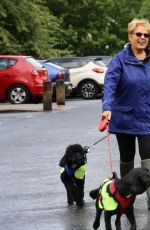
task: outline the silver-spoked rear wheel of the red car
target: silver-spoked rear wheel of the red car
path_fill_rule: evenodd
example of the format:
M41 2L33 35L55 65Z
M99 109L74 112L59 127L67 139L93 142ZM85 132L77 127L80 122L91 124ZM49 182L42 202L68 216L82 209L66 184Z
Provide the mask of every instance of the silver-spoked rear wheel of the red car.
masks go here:
M29 91L22 85L14 85L8 91L8 101L11 104L23 104L29 100Z

